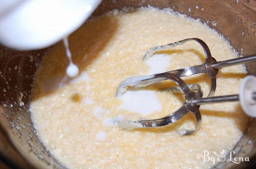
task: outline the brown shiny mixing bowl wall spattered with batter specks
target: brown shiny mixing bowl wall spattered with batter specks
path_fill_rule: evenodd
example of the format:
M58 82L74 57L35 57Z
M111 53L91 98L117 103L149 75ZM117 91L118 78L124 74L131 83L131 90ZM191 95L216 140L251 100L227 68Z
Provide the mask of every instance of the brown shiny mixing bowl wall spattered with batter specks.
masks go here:
M256 54L255 0L103 0L93 15L123 6L148 5L173 8L198 18L223 34L239 54ZM41 144L28 110L33 78L48 49L15 51L0 46L0 158L13 168L64 168ZM248 74L256 75L256 63L247 64L246 68ZM234 150L233 158L249 157L250 161L239 164L224 161L215 167L252 168L255 165L256 119L250 119Z

